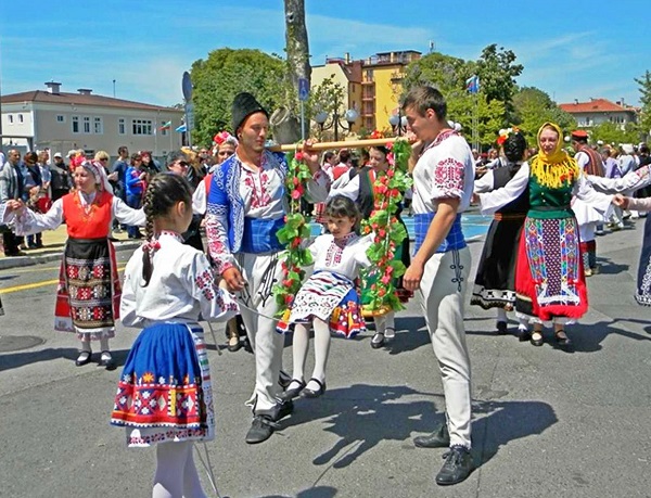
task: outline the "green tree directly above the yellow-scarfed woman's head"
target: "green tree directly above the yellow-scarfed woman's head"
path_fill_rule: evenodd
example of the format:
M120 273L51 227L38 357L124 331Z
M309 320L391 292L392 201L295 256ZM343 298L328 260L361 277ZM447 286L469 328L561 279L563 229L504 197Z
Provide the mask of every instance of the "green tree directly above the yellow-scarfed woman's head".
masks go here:
M556 123L563 130L576 127L576 119L560 108L549 94L535 87L522 87L513 95L512 125L518 125L527 142L536 143L536 133L546 122Z

